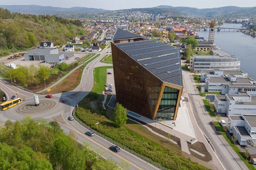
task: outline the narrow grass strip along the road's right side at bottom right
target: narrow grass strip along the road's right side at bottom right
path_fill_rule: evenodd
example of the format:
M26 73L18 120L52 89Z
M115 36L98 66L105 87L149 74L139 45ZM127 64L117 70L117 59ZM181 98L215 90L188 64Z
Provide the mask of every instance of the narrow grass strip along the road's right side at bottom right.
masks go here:
M233 148L233 150L236 151L236 153L238 154L238 156L242 159L242 161L244 161L244 163L247 165L247 167L250 170L256 170L255 167L253 166L253 164L250 163L250 161L246 160L246 157L244 156L244 153L241 152L241 150L236 146L236 144L234 145L234 142L231 140L231 135L228 131L226 131L226 134L221 126L221 123L218 122L213 122L215 127L218 129L218 131L221 132L222 136L227 140L227 142L230 144L230 146Z

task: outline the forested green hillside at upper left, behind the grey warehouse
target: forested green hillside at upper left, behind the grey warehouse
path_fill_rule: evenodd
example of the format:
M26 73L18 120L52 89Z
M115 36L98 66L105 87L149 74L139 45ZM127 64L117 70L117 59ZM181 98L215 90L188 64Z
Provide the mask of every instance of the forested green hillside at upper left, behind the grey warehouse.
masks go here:
M76 35L84 35L81 21L50 15L11 13L0 8L0 48L31 48L40 42L62 45Z

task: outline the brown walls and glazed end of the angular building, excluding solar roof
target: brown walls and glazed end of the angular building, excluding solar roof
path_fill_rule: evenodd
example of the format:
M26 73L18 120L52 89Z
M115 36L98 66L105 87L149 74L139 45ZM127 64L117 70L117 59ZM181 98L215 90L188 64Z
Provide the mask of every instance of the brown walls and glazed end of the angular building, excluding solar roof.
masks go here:
M183 87L163 82L117 46L143 38L111 42L116 101L150 119L175 120Z

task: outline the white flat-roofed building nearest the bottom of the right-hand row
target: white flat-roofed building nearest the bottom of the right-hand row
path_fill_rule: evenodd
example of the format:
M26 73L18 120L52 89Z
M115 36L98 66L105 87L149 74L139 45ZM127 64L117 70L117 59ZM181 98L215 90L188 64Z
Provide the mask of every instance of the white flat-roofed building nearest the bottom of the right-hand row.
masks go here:
M256 142L256 115L229 116L228 130L240 145L252 146Z

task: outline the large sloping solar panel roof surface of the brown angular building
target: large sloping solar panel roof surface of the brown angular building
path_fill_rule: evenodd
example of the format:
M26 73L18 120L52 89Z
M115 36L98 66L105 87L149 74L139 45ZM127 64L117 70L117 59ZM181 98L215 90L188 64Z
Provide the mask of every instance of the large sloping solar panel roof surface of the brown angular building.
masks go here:
M182 86L180 50L154 40L116 44L163 82Z

